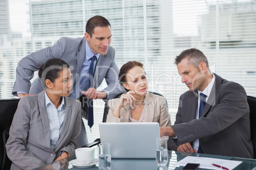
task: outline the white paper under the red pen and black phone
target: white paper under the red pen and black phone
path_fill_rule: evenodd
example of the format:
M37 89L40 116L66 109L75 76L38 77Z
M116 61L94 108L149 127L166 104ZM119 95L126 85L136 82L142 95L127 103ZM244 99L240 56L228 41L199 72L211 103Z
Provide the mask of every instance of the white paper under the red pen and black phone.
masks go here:
M184 159L176 162L175 166L185 166L187 163L200 164L199 168L204 169L217 169L220 170L222 168L213 166L213 164L217 164L222 167L227 167L227 169L234 169L236 166L242 163L242 161L237 160L225 160L225 159L215 159L209 157L185 157Z

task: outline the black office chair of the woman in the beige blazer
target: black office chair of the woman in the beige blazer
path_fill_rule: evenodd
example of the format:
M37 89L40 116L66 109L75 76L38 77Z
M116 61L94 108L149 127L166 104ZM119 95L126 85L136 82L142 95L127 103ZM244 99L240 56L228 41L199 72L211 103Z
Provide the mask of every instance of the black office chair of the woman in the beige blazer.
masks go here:
M157 92L153 92L153 91L148 91L148 93L152 93L154 95L159 95L159 96L163 96L161 95L160 93L157 93ZM122 95L123 93L117 95L115 98L120 98L120 96ZM167 100L166 100L166 105L167 105L167 108L168 108L168 103L167 103ZM108 107L108 102L105 103L105 107L104 107L104 113L103 113L103 122L106 122L106 118L108 116L108 110L110 110L110 107ZM101 143L101 139L100 138L97 138L96 140L94 140L92 143L89 143L87 145L84 145L83 147L94 147L96 145L99 145L99 143Z

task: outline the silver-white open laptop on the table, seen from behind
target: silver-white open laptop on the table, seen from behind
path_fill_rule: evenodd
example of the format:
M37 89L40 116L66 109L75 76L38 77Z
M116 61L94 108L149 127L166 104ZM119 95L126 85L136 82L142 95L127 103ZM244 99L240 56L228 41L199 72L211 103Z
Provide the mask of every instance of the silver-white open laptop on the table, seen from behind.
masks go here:
M157 122L100 123L101 143L110 143L114 159L155 159Z

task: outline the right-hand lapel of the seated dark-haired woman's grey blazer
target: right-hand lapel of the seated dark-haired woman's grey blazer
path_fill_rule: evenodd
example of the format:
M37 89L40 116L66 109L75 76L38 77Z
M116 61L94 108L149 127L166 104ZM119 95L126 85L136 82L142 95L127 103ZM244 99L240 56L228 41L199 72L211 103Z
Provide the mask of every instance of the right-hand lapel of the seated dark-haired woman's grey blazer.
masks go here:
M59 140L57 141L57 143L54 147L54 150L56 148L58 148L58 146L60 145L60 143L62 143L62 140L66 136L66 133L68 133L69 124L70 124L70 120L71 120L71 112L72 112L71 103L69 101L69 98L67 98L67 97L65 97L64 100L65 100L65 117L64 117L62 129L59 134Z

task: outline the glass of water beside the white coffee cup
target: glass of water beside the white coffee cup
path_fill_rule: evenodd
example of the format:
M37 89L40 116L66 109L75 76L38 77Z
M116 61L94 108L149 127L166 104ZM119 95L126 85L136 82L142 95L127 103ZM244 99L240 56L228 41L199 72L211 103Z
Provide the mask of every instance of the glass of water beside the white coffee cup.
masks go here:
M110 143L99 144L99 169L111 169Z

